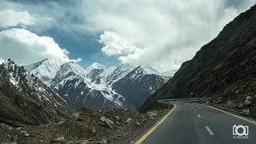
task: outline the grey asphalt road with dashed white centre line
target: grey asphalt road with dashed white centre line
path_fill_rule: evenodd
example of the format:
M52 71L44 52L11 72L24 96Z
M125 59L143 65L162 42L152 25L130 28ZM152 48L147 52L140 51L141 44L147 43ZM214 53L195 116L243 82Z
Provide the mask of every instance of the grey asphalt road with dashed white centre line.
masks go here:
M176 108L142 143L235 144L256 143L256 122L195 103L175 102ZM241 116L240 116L241 117ZM248 138L234 138L233 126L249 126ZM238 129L242 133L242 128ZM142 134L143 135L143 134ZM138 137L138 139L141 136ZM134 142L138 141L134 140Z

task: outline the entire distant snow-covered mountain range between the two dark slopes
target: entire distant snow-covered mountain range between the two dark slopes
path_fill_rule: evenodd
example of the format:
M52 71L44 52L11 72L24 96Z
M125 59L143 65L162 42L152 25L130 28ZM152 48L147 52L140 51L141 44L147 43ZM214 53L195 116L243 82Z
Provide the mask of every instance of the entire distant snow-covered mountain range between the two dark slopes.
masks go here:
M94 62L82 68L76 62L47 58L25 68L74 108L94 110L138 108L174 74L174 71L162 74L148 65L106 67Z

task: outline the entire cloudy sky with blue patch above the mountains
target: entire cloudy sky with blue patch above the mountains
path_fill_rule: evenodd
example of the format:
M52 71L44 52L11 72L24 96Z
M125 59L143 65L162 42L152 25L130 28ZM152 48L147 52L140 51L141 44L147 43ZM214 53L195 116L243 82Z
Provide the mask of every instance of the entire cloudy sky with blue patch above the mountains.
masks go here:
M0 1L0 58L174 70L256 0Z

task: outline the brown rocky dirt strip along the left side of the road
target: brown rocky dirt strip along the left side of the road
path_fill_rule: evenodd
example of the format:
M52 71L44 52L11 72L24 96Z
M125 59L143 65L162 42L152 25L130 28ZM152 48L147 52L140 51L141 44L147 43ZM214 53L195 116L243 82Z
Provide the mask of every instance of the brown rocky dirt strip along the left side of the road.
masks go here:
M0 124L0 142L16 143L128 143L147 130L170 108L151 110L81 109L74 120L41 126L11 127Z

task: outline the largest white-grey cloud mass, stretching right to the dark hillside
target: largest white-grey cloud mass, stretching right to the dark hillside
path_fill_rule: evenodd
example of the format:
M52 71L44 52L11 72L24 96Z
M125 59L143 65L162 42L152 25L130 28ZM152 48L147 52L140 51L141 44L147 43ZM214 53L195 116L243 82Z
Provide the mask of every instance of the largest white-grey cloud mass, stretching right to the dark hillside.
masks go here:
M193 58L223 26L254 3L83 1L79 10L86 21L84 29L96 33L109 30L100 36L106 55L116 55L122 63L150 64L165 71L178 69Z

